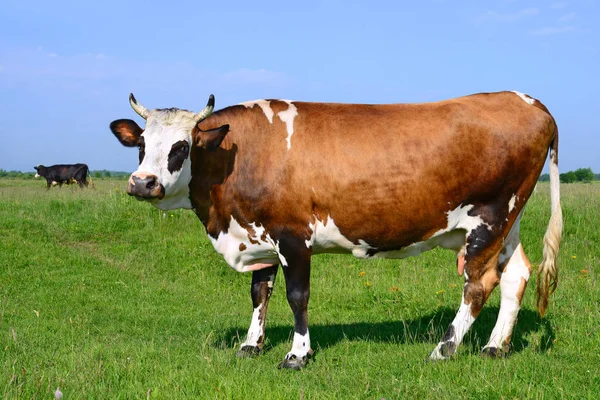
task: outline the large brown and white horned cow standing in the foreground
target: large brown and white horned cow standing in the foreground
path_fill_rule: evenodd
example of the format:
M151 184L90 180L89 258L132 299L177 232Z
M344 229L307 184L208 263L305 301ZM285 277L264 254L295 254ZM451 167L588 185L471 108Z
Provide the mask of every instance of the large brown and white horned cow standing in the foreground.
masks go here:
M427 104L258 100L212 113L148 110L146 128L110 128L138 146L127 191L161 209L188 208L235 270L252 272L254 313L239 355L264 343L267 305L282 265L294 313L291 351L312 354L307 305L313 254L404 258L436 246L458 254L462 304L430 355L451 357L500 283L501 306L484 354L504 355L531 273L519 238L523 207L550 150L552 214L538 272L543 315L557 282L562 232L558 130L538 100L518 92Z

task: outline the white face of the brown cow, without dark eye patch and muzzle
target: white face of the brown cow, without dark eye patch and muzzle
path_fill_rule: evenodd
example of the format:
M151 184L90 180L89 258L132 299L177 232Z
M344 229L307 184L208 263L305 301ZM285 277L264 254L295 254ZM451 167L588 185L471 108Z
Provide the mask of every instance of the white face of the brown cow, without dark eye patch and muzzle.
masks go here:
M192 129L196 125L195 114L185 110L153 110L146 121L144 138L145 156L136 172L156 175L165 188L162 200L152 205L161 210L191 209L189 183L192 179L191 160L188 156L181 168L169 171L169 153L172 146L182 140L192 146Z

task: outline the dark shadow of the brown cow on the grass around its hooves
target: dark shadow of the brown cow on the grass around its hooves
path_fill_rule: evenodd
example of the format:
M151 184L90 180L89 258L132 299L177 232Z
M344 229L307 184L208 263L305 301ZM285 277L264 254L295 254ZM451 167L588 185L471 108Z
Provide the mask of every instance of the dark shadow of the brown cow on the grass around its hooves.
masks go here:
M418 319L356 322L348 324L311 324L309 325L313 349L326 349L342 340L370 341L378 343L430 343L431 349L442 338L446 328L454 319L456 310L440 308L435 313ZM479 353L487 343L498 316L498 307L484 308L465 336L461 346L463 351ZM213 345L219 348L237 347L245 339L247 327L228 329L217 333ZM269 323L267 316L266 345L263 351L269 351L282 343L289 343L293 337L293 321L289 325ZM554 332L547 319L541 319L535 311L522 309L512 336L511 353L519 353L528 347L546 352L552 347Z

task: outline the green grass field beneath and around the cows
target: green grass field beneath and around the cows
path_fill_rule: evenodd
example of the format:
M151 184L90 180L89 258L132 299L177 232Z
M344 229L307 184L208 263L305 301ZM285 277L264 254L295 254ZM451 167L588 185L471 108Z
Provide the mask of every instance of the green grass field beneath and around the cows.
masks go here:
M235 352L250 323L250 274L214 252L196 216L124 192L46 191L0 180L0 393L63 399L439 399L600 396L600 185L562 185L560 282L540 319L530 281L509 358L483 358L496 290L455 359L426 363L458 309L454 253L405 260L313 258L315 359L278 370L293 317L280 273L266 351ZM527 206L522 240L539 264L549 187Z

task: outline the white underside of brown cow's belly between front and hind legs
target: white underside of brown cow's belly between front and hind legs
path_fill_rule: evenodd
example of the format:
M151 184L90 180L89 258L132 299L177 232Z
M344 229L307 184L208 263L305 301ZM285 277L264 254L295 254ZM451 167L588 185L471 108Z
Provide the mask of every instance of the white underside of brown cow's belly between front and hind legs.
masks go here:
M441 230L427 240L412 243L397 250L377 251L376 247L369 245L368 238L359 239L353 243L335 225L335 222L327 217L324 222L319 220L311 224L313 232L310 240L306 241L307 247L312 247L313 254L319 253L350 253L357 258L406 258L440 246L446 249L458 251L466 242L467 231L462 228Z

